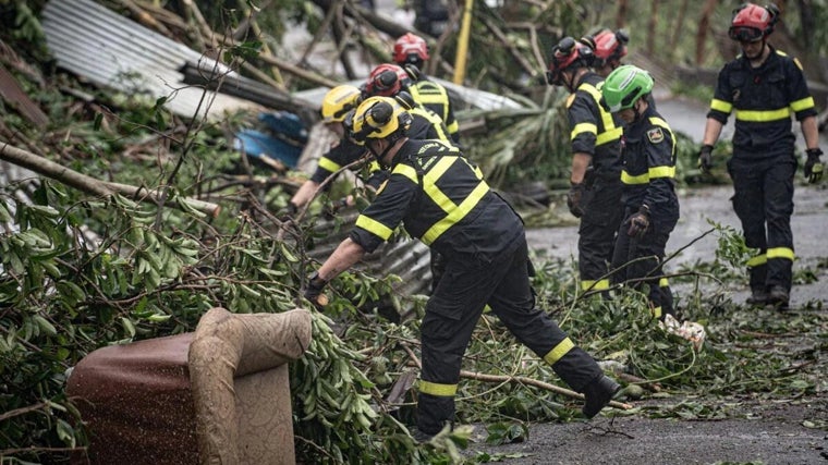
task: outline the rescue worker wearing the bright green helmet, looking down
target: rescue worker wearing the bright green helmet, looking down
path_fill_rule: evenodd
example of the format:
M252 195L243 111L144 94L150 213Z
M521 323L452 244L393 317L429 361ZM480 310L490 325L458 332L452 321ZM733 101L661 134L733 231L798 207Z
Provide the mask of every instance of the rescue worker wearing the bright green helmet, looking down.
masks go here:
M612 257L616 282L647 284L653 316L673 315L672 291L661 265L667 240L679 221L675 196L675 137L649 105L653 77L636 66L619 66L601 87L609 111L624 122L621 159L624 221Z

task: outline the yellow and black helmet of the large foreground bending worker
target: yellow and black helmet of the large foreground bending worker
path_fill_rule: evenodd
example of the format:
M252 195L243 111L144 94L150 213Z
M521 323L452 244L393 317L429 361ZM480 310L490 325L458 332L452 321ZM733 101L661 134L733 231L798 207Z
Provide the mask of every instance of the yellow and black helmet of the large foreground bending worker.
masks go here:
M413 121L409 111L391 97L368 97L353 114L352 137L364 143L368 138L399 138Z

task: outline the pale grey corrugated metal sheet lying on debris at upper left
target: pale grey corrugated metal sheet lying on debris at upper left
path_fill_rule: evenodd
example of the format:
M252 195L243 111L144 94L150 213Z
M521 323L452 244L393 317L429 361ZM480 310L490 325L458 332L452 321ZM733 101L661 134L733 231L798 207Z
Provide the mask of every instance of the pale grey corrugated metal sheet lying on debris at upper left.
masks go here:
M42 26L58 65L99 86L153 99L168 97L166 108L182 117L194 117L196 111L203 115L210 99L210 115L245 108L261 110L253 102L211 91L199 109L204 90L184 85L178 70L186 62L229 70L92 0L49 1Z

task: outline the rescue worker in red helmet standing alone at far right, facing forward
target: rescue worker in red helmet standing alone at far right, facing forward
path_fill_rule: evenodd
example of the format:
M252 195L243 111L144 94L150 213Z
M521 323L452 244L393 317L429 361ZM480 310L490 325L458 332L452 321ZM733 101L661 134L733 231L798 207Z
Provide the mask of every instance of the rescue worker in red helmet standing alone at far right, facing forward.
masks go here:
M742 53L719 72L698 156L704 171L713 167L713 148L735 110L733 210L742 222L745 244L757 250L747 261L748 304L788 308L793 266L793 178L795 136L791 114L800 122L807 147L805 178L819 181L817 110L799 60L775 49L767 38L779 17L775 5L745 3L734 10L728 34Z

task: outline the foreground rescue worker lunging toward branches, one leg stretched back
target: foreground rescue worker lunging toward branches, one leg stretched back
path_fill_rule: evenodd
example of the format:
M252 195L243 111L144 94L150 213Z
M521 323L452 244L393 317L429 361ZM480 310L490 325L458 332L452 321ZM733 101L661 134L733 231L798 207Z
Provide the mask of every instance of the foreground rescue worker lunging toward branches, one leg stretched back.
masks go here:
M353 121L354 136L365 140L391 176L349 237L309 277L304 295L316 302L331 279L387 241L400 223L446 257L446 276L428 299L421 325L416 438L426 440L453 420L463 354L487 304L523 344L584 393L584 415L597 415L619 386L535 307L518 213L459 148L406 137L411 115L395 100L369 98Z

